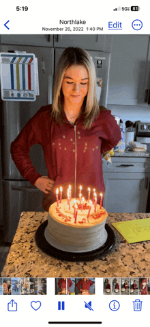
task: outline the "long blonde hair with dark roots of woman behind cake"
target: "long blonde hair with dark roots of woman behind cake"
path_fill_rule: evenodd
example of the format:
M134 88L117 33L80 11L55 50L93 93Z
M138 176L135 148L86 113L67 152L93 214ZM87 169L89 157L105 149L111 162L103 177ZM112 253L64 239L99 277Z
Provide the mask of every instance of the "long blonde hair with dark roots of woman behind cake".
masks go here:
M52 116L60 125L63 121L64 97L61 89L63 76L67 68L73 64L83 65L89 73L89 90L83 101L82 113L84 114L84 128L90 128L95 116L100 112L96 97L96 74L93 60L89 53L76 47L68 47L59 58L55 74L54 97L52 101Z

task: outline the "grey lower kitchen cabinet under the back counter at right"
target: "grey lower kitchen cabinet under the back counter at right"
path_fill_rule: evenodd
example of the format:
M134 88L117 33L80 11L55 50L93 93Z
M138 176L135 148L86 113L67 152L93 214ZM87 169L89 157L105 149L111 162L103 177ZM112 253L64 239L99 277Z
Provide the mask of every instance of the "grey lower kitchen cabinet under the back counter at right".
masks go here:
M108 213L146 213L150 158L112 157L103 162L104 208Z

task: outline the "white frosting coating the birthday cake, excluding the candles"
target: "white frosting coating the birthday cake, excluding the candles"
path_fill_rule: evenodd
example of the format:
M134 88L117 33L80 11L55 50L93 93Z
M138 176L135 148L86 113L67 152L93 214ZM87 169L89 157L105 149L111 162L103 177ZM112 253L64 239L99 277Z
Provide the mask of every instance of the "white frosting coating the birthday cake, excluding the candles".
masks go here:
M63 200L63 204L64 201L66 202L66 200ZM57 217L57 214L55 214L54 217L54 208L56 213L57 204L52 204L48 213L48 226L44 232L48 243L53 247L66 252L89 252L101 247L107 239L107 232L104 228L107 218L106 210L103 208L103 217L96 220L92 218L93 212L91 212L89 223L87 221L86 223L74 223L74 209L71 209L71 213L71 210L68 211L67 205L64 205L63 208L63 204L60 205L61 213L64 211L65 215L69 214L72 221L65 222L62 217ZM97 205L97 210L96 213L100 213L99 205ZM88 210L86 215L84 213L83 216L83 213L84 212L81 212L81 210L78 210L78 220L82 220L82 218L80 219L80 216L86 217Z

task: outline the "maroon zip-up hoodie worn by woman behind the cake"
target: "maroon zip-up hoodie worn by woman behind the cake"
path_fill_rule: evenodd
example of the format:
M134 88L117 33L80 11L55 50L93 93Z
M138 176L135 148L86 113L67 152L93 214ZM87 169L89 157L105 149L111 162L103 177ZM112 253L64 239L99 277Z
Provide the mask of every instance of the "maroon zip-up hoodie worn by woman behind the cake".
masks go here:
M97 193L104 193L102 173L102 153L112 149L121 140L121 130L110 110L100 107L100 114L95 117L90 129L83 129L82 114L74 125L63 114L63 124L52 119L51 106L44 106L28 121L25 128L11 144L11 154L16 167L25 180L35 184L42 175L35 171L29 157L30 147L35 143L42 145L48 178L55 181L52 190L44 193L43 207L48 210L56 201L57 187L63 187L63 197L67 197L69 184L72 197L78 197L79 186L82 196L87 199L88 187ZM39 159L39 158L38 158ZM75 183L76 180L76 183Z

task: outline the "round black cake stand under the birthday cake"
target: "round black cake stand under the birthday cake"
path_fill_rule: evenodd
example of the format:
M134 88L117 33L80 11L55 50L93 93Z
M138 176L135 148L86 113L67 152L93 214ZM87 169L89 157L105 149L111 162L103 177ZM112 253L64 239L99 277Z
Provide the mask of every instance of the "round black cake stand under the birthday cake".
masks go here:
M112 247L115 245L115 234L106 223L105 228L108 234L107 240L96 250L89 251L89 252L82 252L82 253L74 253L74 252L66 252L61 251L53 247L46 241L46 238L44 237L44 231L48 224L48 220L44 221L39 228L37 228L37 231L35 233L35 241L37 243L37 246L42 250L44 253L53 256L55 258L58 258L59 260L64 261L93 261L99 258L102 258L102 256L105 256L110 250L112 250Z

